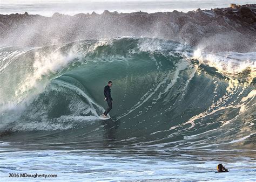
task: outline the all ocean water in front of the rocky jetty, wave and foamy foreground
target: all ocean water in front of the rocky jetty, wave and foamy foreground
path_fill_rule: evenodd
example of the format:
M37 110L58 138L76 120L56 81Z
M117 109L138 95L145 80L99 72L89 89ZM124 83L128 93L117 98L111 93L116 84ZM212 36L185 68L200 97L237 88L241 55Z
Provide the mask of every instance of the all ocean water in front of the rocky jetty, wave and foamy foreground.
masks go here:
M2 180L256 180L255 58L136 37L1 47Z

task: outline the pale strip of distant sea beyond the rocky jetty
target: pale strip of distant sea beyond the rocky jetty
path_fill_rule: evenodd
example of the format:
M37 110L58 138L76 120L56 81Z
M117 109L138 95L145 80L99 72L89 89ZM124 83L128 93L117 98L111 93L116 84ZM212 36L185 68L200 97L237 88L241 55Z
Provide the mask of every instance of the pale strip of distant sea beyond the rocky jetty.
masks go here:
M253 0L213 0L213 1L188 1L188 0L161 0L161 1L40 1L40 0L1 0L0 14L24 13L43 15L51 17L53 13L59 12L65 15L75 15L77 13L102 13L104 10L111 12L171 12L173 10L187 12L200 9L227 8L231 3L253 4Z

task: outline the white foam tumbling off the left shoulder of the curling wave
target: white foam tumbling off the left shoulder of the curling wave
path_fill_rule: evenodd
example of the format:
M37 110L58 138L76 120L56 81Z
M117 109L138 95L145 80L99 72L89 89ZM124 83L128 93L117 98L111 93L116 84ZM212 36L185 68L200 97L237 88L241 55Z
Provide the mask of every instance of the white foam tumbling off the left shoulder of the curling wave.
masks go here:
M15 73L15 76L21 81L16 86L12 85L12 89L16 90L15 95L8 95L8 97L10 97L9 102L5 103L4 101L2 103L1 110L8 108L14 109L17 107L18 103L19 107L22 104L30 104L39 93L44 91L49 82L56 76L59 76L59 73L61 73L64 68L68 67L69 64L72 64L73 61L81 61L83 63L83 57L85 54L95 51L98 46L111 43L112 40L95 41L93 43L89 43L86 50L81 50L82 46L80 46L80 44L75 44L67 53L61 52L61 48L66 46L66 44L60 45L50 52L44 52L44 47L33 47L23 49L22 51L13 51L8 53L1 52L0 57L5 59L4 65L1 66L1 70L4 70L15 58L18 58L28 51L35 50L31 52L31 54L34 53L33 62L28 62L28 64L24 64L24 61L26 60L22 62L22 65L32 65L32 67L22 67L20 68L20 72L17 74ZM83 55L80 52L82 52ZM1 60L1 62L3 62L3 60Z

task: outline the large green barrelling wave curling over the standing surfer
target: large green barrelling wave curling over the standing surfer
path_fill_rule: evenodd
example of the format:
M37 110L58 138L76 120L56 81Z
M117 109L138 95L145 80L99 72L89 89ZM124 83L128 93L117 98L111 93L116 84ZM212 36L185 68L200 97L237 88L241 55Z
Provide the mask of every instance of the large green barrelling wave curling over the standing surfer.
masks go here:
M33 142L35 135L56 142L65 135L65 142L89 141L80 143L86 147L111 139L118 146L181 148L233 145L255 134L254 69L231 75L186 45L119 38L0 51L2 132ZM109 80L112 118L101 121Z

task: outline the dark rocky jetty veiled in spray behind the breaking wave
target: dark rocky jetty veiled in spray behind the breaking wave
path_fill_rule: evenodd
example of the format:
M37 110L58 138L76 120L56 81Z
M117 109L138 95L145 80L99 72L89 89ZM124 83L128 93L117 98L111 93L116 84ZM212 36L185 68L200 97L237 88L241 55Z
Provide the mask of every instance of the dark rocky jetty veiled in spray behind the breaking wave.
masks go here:
M179 41L209 51L256 51L256 4L184 12L0 15L0 46L42 46L122 36Z

